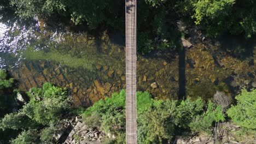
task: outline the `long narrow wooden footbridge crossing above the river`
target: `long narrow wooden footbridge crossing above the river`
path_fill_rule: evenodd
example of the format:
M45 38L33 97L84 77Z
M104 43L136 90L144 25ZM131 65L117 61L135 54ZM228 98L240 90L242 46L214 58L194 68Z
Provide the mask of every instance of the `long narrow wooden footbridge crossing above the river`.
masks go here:
M126 143L137 143L136 0L126 0Z

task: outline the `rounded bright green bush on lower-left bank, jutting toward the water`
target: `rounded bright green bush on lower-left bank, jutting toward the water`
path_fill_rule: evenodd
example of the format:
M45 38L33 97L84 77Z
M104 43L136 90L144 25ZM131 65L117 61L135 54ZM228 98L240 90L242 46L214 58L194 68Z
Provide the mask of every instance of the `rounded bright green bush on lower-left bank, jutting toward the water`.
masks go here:
M22 111L43 125L59 121L62 113L71 105L66 88L55 87L50 83L45 83L43 88L32 88L28 95L31 98L30 103L25 105Z

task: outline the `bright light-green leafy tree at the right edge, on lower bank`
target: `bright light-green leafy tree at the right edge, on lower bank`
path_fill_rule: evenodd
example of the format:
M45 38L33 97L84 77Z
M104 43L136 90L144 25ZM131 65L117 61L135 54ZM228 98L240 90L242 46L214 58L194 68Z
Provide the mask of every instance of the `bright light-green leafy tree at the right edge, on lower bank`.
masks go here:
M232 121L246 129L256 129L256 89L248 92L242 89L242 93L236 96L237 105L228 109L228 116Z

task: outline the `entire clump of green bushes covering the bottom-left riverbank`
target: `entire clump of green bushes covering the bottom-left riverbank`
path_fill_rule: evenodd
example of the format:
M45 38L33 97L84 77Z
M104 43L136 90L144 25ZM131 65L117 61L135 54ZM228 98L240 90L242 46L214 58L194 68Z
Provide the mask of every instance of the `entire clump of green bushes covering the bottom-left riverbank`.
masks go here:
M3 130L24 130L12 143L54 143L55 125L69 111L71 98L66 88L45 83L27 93L30 101L18 112L9 113L0 121Z

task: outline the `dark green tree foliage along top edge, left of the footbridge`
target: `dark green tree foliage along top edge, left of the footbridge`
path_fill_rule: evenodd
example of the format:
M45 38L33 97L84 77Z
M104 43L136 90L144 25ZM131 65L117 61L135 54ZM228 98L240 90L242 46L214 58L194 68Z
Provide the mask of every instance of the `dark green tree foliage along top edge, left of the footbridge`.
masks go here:
M16 13L21 17L50 17L59 14L70 17L75 25L86 22L90 27L97 27L103 21L106 22L106 16L109 13L114 16L117 15L111 13L108 5L113 4L111 5L113 7L119 5L120 2L112 3L105 0L79 0L75 2L71 0L11 0L10 4L15 7Z

